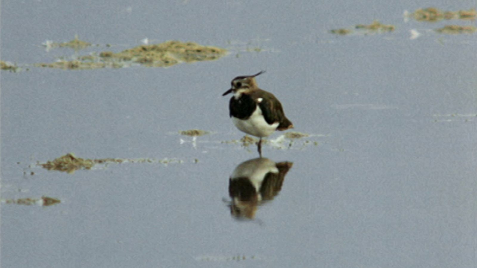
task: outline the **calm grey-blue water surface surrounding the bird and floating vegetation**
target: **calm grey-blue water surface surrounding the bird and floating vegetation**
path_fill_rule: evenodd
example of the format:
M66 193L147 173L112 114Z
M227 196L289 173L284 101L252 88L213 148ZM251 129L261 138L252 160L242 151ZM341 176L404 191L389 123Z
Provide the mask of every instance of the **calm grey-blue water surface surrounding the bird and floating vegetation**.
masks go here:
M477 39L404 10L475 1L1 2L1 267L477 267ZM395 31L339 36L378 19ZM411 39L411 30L419 32ZM111 44L167 40L227 48L169 68L64 71L29 64ZM262 148L292 162L254 219L230 213L229 176L258 157L221 97L266 70L296 140ZM180 130L211 134L197 138ZM166 159L73 174L78 157ZM33 175L31 175L33 172ZM51 196L54 206L7 204Z

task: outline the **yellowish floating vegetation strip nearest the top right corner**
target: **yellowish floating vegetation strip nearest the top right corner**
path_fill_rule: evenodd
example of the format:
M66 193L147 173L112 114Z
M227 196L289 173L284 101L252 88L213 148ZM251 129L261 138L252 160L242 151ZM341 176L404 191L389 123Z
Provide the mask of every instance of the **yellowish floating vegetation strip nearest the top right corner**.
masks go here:
M475 20L477 13L475 9L443 11L437 8L429 7L426 9L415 10L411 16L416 21Z

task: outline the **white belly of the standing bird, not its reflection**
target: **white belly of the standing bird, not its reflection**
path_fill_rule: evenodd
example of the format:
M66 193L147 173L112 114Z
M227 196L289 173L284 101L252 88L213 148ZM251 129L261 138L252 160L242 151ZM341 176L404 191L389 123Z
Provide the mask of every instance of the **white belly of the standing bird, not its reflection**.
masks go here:
M275 132L280 123L275 122L273 124L268 124L263 118L262 111L259 109L259 106L255 109L252 115L247 120L241 120L232 116L232 122L235 126L250 135L256 137L266 137Z

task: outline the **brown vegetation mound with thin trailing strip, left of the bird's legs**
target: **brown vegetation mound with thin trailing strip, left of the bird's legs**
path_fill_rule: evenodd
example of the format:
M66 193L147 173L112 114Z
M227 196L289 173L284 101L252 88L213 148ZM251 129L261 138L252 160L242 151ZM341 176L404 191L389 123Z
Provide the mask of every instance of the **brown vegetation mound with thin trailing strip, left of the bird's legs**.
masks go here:
M123 159L123 158L102 158L102 159L83 159L76 157L76 155L70 153L56 158L53 161L48 161L44 164L39 164L43 168L48 170L57 170L67 173L74 173L78 169L91 169L96 164L108 164L108 163L182 163L182 160L175 158L164 159L151 159L151 158L136 158L136 159Z

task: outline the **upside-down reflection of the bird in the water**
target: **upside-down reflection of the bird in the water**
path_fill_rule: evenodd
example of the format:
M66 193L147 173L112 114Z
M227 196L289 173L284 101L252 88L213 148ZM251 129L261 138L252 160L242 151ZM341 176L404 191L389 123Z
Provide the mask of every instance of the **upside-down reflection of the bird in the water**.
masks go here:
M238 165L228 181L231 215L237 219L253 219L259 205L278 195L292 165L261 157Z

